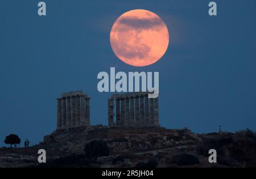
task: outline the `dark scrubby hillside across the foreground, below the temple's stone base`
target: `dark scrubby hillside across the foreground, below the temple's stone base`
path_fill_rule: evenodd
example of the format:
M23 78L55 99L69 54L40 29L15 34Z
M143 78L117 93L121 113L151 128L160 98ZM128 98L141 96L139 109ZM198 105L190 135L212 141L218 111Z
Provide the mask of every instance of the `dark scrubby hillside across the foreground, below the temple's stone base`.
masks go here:
M181 142L176 146L143 148L99 157L97 161L86 159L84 154L48 150L47 163L40 165L37 151L41 146L1 148L0 167L256 167L256 135L252 131L198 136L200 140L197 143ZM118 141L110 141L109 145L112 146L113 142ZM210 149L217 151L216 164L208 162Z

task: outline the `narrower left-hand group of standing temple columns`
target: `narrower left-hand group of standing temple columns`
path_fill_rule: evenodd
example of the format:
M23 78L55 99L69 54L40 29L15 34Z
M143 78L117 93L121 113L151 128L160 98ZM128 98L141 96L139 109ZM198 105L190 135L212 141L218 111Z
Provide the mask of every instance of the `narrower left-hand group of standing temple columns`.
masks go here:
M82 91L61 93L57 98L57 130L90 126L90 97Z

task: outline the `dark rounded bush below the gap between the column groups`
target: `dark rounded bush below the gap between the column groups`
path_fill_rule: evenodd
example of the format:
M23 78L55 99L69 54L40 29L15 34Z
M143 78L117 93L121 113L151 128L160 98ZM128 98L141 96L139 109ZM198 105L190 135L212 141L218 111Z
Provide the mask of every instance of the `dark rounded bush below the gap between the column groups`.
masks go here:
M100 156L109 155L109 147L103 140L92 140L85 145L85 155L88 159L97 160Z

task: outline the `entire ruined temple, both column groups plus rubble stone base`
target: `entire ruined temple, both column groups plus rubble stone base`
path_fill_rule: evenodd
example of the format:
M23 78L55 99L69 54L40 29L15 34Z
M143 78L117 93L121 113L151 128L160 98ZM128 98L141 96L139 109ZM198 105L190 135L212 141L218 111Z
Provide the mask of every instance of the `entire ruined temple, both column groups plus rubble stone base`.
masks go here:
M108 99L109 126L90 125L89 100L82 91L62 93L57 98L57 130L44 136L39 147L84 154L91 140L105 140L111 154L125 154L199 140L188 129L160 127L158 98L149 99L147 92L112 95Z

